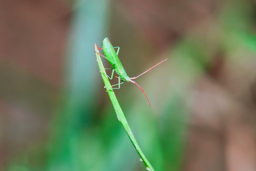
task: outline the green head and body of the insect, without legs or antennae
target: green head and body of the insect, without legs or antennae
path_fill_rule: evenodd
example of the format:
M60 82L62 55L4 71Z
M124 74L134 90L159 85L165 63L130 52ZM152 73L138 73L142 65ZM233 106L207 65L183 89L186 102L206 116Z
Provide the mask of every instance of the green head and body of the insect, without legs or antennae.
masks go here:
M102 47L105 57L108 59L108 62L111 64L116 73L120 76L120 79L129 82L130 78L126 74L118 55L108 38L104 38Z

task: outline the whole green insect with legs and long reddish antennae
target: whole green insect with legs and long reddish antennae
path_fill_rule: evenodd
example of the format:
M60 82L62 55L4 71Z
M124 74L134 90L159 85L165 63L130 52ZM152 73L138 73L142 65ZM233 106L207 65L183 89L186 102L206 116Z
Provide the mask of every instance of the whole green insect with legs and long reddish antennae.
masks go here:
M102 49L103 49L103 52L104 52L105 56L103 56L103 55L101 55L101 54L99 54L99 53L98 53L98 54L99 54L100 56L105 57L106 59L108 59L108 62L109 62L109 63L111 64L111 66L112 66L112 68L109 68L109 69L112 69L113 71L112 71L111 77L109 77L109 76L107 75L108 78L109 78L109 79L112 79L112 78L113 78L114 71L116 71L116 73L118 74L118 84L116 84L116 85L118 85L118 88L112 88L112 89L119 89L119 88L120 88L120 84L123 84L124 81L126 81L126 82L131 82L131 83L136 84L136 85L141 89L141 91L144 93L144 95L146 96L146 98L147 98L147 100L148 100L148 96L146 95L145 91L144 91L135 81L133 81L133 79L136 79L136 78L138 78L139 76L145 74L146 72L148 72L148 71L151 70L152 68L158 66L159 64L161 64L162 62L166 61L167 59L165 59L165 60L159 62L159 63L158 63L157 65L155 65L155 66L152 66L151 68L149 68L149 69L148 69L147 71L145 71L144 73L142 73L142 74L140 74L140 75L138 75L138 76L136 76L136 77L130 78L130 77L127 75L127 73L126 73L124 67L123 67L122 64L121 64L121 61L120 61L119 58L118 58L118 52L119 52L120 47L113 47L108 38L104 38L102 48L99 48L99 47L95 44L95 48L96 48L96 47L97 47L99 50L102 50ZM117 52L115 51L114 48L118 48ZM105 68L105 69L108 69L108 68ZM120 83L120 80L122 81L121 83ZM113 86L116 86L116 85L112 85L112 87L113 87ZM149 107L150 107L149 100L148 100L148 104L149 104Z

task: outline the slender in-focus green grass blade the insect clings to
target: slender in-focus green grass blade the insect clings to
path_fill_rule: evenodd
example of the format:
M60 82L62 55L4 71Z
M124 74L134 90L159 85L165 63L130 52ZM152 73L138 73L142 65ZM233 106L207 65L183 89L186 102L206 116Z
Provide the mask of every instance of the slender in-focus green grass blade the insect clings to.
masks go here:
M109 95L109 98L111 100L111 103L114 106L114 109L116 111L116 114L117 114L119 122L125 128L125 131L128 134L129 139L131 140L131 142L132 142L133 146L135 147L136 151L138 152L138 155L140 156L142 161L147 166L147 170L148 171L155 171L154 168L149 163L149 161L147 160L147 158L145 157L144 153L139 148L138 142L136 141L134 135L131 132L131 129L130 129L130 127L128 125L128 122L127 122L127 120L125 118L125 115L124 115L124 113L123 113L123 111L122 111L122 109L121 109L121 107L120 107L120 105L118 103L118 99L117 99L113 89L111 89L112 88L111 84L109 83L108 77L106 76L107 73L105 72L105 69L104 69L103 63L101 61L101 58L100 58L100 56L97 53L98 52L98 48L97 47L95 47L95 52L96 52L98 67L99 67L99 70L101 71L101 76L102 76L103 82L104 82L106 88L108 89L108 95Z

